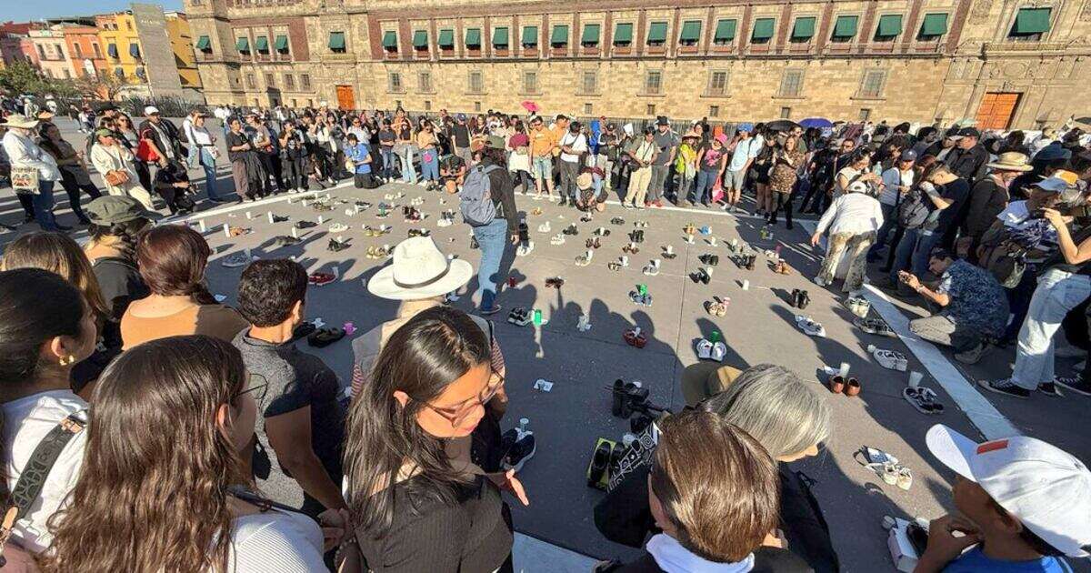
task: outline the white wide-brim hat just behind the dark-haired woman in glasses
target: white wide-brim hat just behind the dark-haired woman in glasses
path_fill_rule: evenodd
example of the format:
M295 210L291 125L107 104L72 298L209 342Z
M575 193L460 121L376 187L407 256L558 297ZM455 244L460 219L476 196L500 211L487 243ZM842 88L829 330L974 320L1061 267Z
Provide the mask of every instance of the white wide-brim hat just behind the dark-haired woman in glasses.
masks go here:
M431 237L413 237L394 248L394 261L375 273L368 290L380 298L418 300L452 293L471 276L473 265L447 260Z

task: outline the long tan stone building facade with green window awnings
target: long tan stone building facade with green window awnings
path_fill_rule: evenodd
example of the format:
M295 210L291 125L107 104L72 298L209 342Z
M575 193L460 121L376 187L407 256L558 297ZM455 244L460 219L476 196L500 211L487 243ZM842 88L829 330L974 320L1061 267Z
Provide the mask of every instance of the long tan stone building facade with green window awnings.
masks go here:
M1091 115L1091 0L187 0L209 103L986 128Z

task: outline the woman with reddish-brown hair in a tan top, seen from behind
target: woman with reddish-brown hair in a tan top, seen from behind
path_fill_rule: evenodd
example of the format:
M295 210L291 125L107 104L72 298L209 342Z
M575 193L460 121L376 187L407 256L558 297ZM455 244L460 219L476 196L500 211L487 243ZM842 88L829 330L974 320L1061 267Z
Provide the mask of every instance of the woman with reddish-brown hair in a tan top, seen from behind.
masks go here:
M204 237L183 225L164 225L140 235L136 263L152 294L130 303L121 317L124 349L178 334L230 342L249 325L205 286L209 254Z

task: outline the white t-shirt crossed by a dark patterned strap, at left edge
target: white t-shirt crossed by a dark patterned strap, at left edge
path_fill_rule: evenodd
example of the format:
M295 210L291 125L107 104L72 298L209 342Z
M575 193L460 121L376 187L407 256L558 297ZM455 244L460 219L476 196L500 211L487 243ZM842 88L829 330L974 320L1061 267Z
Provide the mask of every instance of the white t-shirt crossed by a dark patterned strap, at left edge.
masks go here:
M15 488L38 443L58 422L76 413L82 413L81 417L87 421L87 403L69 390L40 392L13 399L3 404L2 408L3 449L8 453L3 463L9 491ZM52 537L46 528L46 520L57 512L64 497L75 487L86 444L86 430L69 440L49 471L41 494L26 515L15 523L12 538L23 549L40 553L49 547Z

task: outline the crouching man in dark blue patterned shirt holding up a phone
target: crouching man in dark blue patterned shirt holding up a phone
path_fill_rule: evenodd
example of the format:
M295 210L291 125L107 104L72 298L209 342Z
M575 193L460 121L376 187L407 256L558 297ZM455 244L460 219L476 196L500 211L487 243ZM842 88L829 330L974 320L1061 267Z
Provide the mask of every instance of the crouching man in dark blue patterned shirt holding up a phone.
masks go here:
M944 249L932 251L928 271L939 277L936 286L901 271L899 279L928 303L940 309L931 317L909 321L909 330L925 341L955 349L955 357L974 363L991 341L1004 334L1008 322L1008 299L1004 287L980 266L955 260Z

